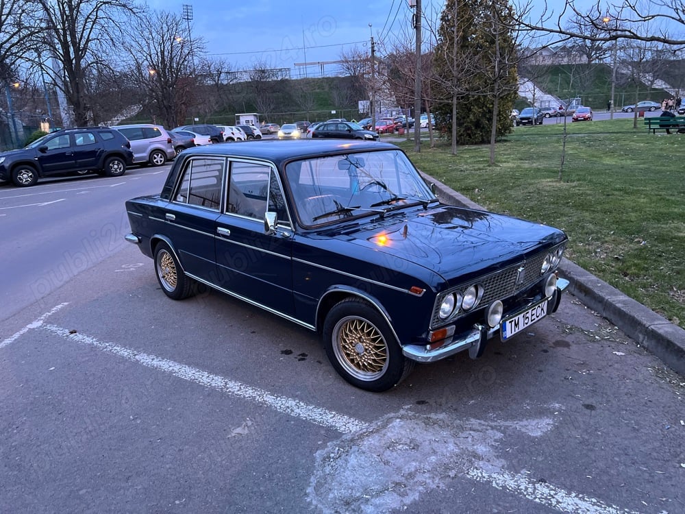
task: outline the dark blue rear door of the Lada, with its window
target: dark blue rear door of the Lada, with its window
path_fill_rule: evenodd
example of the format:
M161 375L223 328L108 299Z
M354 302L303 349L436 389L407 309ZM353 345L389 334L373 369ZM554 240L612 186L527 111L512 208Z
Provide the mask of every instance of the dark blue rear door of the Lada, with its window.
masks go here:
M221 214L226 159L197 156L186 160L164 212L164 231L184 271L215 284L214 233Z

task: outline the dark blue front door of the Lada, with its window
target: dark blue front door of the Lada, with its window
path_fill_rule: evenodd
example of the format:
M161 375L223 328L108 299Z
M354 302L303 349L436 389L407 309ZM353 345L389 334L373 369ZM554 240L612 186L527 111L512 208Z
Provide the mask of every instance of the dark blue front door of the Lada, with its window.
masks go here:
M216 220L216 269L226 291L278 313L292 315L292 225L275 169L234 160L227 201ZM275 234L264 229L277 212Z

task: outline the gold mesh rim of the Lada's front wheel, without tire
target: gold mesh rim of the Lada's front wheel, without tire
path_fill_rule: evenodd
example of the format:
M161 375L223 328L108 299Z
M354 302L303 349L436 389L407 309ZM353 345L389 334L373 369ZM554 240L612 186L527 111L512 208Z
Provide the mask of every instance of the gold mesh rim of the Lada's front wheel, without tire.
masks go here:
M333 329L333 351L354 378L375 380L388 368L388 344L378 328L362 317L340 319Z

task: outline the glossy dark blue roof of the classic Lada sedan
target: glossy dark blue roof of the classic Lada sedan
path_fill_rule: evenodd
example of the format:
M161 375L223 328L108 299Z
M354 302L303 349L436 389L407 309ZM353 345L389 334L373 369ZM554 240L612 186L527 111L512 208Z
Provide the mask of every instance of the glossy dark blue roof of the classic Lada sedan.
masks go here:
M258 140L249 145L206 145L183 152L183 156L197 154L245 157L270 160L280 164L286 160L312 158L355 151L398 150L396 145L378 141L349 141L340 139Z

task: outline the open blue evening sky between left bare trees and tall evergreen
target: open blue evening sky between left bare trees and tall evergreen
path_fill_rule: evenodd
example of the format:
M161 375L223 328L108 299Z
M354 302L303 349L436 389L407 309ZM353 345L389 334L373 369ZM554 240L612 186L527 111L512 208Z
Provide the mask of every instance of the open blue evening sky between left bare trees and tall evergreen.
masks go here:
M340 59L343 49L369 51L376 42L406 38L413 10L408 0L148 0L156 10L183 14L192 5L193 37L201 36L211 56L234 69L256 62L292 68L296 62ZM427 16L437 19L444 0L422 0ZM371 23L371 27L369 27Z

